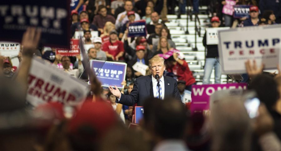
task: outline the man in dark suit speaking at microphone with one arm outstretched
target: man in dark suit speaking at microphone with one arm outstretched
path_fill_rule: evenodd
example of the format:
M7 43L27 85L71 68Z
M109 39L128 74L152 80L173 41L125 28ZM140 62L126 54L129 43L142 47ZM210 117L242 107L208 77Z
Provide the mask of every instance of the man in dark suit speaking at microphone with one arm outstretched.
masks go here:
M177 100L180 100L177 81L174 78L163 76L165 70L164 59L155 56L149 60L148 66L151 75L137 78L130 95L122 94L116 86L115 89L109 86L111 93L119 100L118 103L127 106L132 106L137 103L137 106L142 106L145 99L152 97L158 98L159 90L157 86L157 80L155 79L156 74L159 75L160 79L160 99L173 97Z

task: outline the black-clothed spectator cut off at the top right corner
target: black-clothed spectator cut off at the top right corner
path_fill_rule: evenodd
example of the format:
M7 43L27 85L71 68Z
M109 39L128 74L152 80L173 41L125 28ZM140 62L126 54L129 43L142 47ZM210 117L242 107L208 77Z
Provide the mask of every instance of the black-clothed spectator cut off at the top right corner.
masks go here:
M263 14L265 10L272 10L276 17L276 23L281 23L281 1L280 0L260 0L260 11Z

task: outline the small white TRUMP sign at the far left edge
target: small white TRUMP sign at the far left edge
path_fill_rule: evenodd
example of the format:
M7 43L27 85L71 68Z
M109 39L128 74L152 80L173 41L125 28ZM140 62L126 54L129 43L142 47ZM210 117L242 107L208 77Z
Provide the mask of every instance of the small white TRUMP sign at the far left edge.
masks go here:
M0 41L0 56L17 56L20 51L20 43Z

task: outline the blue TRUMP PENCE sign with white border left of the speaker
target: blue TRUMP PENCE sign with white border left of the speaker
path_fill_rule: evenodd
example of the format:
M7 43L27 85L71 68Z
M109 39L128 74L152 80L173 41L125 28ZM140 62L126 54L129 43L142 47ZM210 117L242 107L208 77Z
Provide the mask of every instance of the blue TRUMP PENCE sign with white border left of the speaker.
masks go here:
M117 88L123 89L124 85L121 85L125 80L127 64L123 62L101 61L91 60L90 67L95 71L96 77L101 81L101 86L117 86ZM89 81L89 84L90 81Z

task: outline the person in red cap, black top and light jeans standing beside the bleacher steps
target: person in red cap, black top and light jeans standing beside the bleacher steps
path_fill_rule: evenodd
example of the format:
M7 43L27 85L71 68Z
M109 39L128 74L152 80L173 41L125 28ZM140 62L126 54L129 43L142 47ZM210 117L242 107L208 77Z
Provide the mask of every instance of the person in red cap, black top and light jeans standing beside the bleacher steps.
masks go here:
M220 20L219 17L213 17L211 19L211 25L213 28L219 27ZM209 36L209 35L208 35ZM220 76L221 76L221 66L219 62L216 60L215 57L219 57L218 45L207 45L207 35L203 37L203 45L207 48L207 56L205 60L204 66L204 77L203 77L203 84L210 84L210 77L212 70L215 70L215 83L220 83Z

